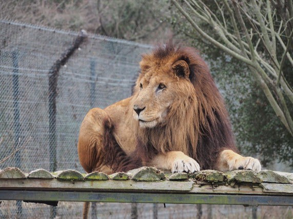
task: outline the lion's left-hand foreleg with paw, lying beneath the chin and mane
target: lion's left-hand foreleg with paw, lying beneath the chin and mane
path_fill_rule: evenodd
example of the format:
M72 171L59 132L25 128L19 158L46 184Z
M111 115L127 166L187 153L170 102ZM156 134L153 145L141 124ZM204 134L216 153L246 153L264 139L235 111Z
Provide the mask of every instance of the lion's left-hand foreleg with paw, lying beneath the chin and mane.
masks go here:
M155 155L146 165L172 171L172 173L194 173L200 170L199 164L181 151Z

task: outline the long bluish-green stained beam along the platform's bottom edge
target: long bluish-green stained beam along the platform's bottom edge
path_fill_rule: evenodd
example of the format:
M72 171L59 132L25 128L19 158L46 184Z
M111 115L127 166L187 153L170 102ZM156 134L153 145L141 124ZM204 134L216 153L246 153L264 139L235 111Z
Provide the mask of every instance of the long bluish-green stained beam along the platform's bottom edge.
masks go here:
M0 200L35 200L72 202L136 202L173 204L221 204L221 205L284 205L293 206L292 196L258 196L252 194L190 194L150 192L103 191L33 191L0 190Z

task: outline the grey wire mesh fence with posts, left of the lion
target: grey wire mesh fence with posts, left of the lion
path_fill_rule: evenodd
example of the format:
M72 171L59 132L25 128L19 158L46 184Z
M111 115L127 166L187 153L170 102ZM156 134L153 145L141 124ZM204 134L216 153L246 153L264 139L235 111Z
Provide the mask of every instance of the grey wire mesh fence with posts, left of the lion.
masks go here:
M0 20L0 160L21 148L0 168L84 172L77 155L83 117L93 107L131 95L141 54L150 48ZM78 205L81 212L82 203ZM68 218L76 208L70 209ZM48 218L58 212L66 215L62 207L52 214L44 205L9 201L0 217Z

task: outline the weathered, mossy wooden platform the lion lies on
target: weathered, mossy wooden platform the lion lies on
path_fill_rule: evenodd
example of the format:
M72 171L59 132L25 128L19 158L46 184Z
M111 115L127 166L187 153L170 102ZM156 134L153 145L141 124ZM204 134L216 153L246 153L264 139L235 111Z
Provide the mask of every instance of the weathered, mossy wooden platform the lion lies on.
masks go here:
M273 171L166 174L141 167L108 176L8 167L0 171L0 200L293 206L292 183L293 174Z

